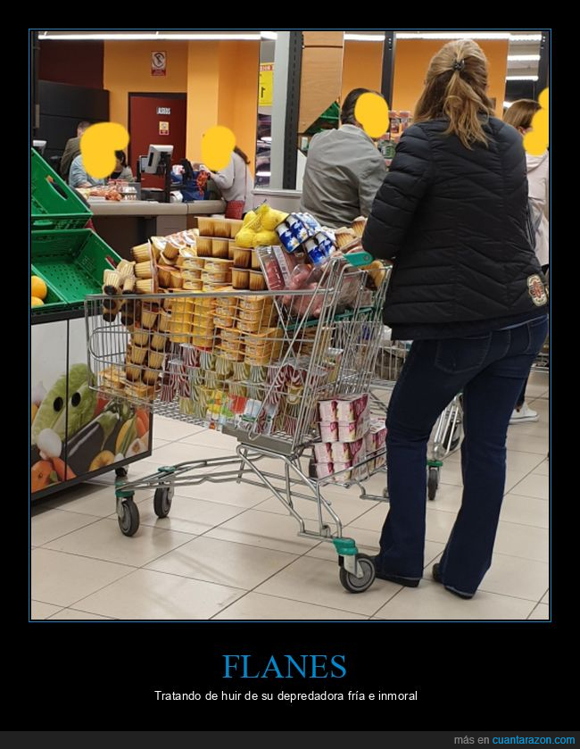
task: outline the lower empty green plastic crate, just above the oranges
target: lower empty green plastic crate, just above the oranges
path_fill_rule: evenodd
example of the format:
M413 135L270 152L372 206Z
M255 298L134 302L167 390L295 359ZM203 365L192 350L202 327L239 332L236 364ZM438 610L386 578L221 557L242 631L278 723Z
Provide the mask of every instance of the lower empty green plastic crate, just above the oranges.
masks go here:
M101 294L103 271L120 261L91 229L33 231L30 254L32 273L66 304L80 304L89 294Z

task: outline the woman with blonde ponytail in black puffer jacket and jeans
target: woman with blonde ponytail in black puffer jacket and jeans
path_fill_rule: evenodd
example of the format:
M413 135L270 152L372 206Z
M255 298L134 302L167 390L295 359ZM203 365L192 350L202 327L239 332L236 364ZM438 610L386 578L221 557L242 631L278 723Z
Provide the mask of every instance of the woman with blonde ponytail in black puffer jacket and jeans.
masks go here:
M427 442L462 391L463 496L433 576L463 598L492 561L508 423L547 332L522 140L493 117L486 90L487 61L475 42L435 54L416 124L397 146L362 237L371 254L394 262L385 322L394 339L413 340L387 414L390 509L377 577L418 586Z

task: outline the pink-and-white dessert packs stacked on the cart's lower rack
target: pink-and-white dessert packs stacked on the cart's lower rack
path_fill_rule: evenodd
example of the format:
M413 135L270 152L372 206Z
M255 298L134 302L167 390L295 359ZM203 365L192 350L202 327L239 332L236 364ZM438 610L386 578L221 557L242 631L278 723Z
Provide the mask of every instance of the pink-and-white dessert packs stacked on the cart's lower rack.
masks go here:
M319 479L333 474L337 482L366 479L385 462L383 420L369 417L369 395L346 395L319 402L322 442L314 445Z

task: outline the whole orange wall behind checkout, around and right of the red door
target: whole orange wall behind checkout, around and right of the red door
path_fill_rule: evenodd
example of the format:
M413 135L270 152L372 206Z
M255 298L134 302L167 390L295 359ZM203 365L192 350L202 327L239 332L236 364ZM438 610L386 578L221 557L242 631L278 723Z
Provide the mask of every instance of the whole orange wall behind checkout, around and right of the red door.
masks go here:
M167 75L151 75L151 53L167 52ZM260 42L105 42L104 88L110 117L128 124L128 93L187 94L186 154L202 159L201 142L212 125L226 125L254 161ZM253 165L252 165L253 169Z

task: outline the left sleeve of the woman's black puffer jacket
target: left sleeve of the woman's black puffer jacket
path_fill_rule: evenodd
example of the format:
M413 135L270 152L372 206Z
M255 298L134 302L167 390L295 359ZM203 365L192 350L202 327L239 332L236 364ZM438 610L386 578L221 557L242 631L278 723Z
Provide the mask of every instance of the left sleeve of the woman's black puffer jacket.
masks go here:
M398 254L431 175L427 134L417 125L407 129L391 168L379 187L362 235L367 252L383 260Z

